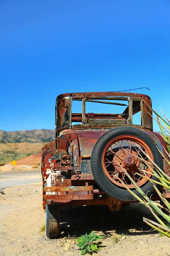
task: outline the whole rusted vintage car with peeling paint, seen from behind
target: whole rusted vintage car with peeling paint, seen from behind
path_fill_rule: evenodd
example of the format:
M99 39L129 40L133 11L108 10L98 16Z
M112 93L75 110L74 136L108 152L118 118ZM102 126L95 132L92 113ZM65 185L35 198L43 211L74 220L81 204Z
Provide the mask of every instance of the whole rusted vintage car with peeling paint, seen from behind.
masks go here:
M72 113L74 101L82 102L81 113ZM114 106L125 106L125 110L119 114L86 113L87 102L110 105L113 111ZM145 168L144 163L136 158L142 150L153 160L159 158L159 165L169 175L160 155L154 156L154 146L166 154L166 144L160 134L153 132L149 106L152 107L150 97L136 93L65 93L57 97L56 150L45 151L42 155L43 205L48 207L50 214L46 230L49 238L59 235L59 208L63 205L107 205L113 211L121 209L123 204L135 202L135 198L125 195L122 181L130 189L134 187L121 165L139 186L148 189L146 180L134 176L136 170ZM133 115L138 112L141 112L141 123L136 125L133 124ZM98 152L101 157L98 157ZM105 179L106 182L102 181ZM115 188L113 193L112 186ZM170 198L164 188L161 191L164 197ZM151 192L152 199L159 200L156 192ZM51 226L51 221L57 226Z

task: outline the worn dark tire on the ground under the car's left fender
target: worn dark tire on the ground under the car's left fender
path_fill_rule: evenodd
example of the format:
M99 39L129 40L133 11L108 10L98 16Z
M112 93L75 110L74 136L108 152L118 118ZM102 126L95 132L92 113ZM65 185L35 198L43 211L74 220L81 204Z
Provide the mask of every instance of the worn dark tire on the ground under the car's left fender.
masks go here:
M60 234L60 207L58 204L46 204L46 236L58 237Z

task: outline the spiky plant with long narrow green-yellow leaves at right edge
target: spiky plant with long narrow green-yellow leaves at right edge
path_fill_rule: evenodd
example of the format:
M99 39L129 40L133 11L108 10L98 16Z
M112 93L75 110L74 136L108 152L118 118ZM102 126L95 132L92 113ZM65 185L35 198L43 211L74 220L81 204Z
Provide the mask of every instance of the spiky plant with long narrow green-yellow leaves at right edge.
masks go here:
M146 102L144 102L145 104L147 104ZM150 106L147 104L147 106L150 108ZM161 133L162 136L164 137L164 140L167 144L167 150L164 148L164 150L166 151L166 156L164 154L161 153L161 151L159 150L159 152L161 153L162 157L164 158L166 164L170 167L170 137L168 137L164 131L167 131L168 134L170 134L170 119L167 118L167 116L164 115L164 118L162 118L156 111L154 111L152 108L150 108L157 117L157 120L153 117L153 119L156 120L156 122L158 122L159 127L161 129ZM160 120L164 123L164 126L161 125ZM156 163L153 162L153 160L142 150L143 154L145 156L147 156L147 159L150 161L147 162L146 160L142 159L141 157L137 157L139 159L141 159L142 161L144 161L147 165L147 167L153 172L153 176L158 178L159 181L156 180L152 180L149 178L149 176L147 174L150 174L150 172L144 171L143 170L143 175L136 173L136 175L139 175L145 179L147 179L148 181L150 181L154 187L154 189L156 190L156 192L158 193L159 197L160 197L160 201L163 203L163 206L161 204L158 204L157 202L152 201L146 194L144 194L144 192L142 191L142 189L134 182L134 180L130 177L130 175L126 172L126 170L120 166L123 171L126 173L127 177L131 180L131 182L133 183L134 187L141 193L142 195L142 199L139 198L132 190L130 190L126 184L120 180L122 182L122 184L125 186L125 188L142 204L144 204L147 208L150 209L150 211L152 212L153 216L156 218L156 221L151 221L150 219L147 218L143 218L143 221L145 223L147 223L150 227L152 227L153 229L159 231L159 233L167 236L170 238L170 201L168 201L166 198L163 197L162 193L159 191L159 189L156 187L156 184L165 187L167 189L167 191L170 192L170 177L164 173L164 171L162 171L159 166L156 165ZM119 164L119 163L118 163ZM158 215L161 215L161 217L163 217L164 221L162 221L161 218L159 218Z

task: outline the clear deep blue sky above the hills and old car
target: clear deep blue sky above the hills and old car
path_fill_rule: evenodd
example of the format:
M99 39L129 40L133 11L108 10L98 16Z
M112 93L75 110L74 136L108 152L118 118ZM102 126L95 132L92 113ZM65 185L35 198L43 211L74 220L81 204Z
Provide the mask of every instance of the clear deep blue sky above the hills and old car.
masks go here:
M0 37L0 130L54 129L66 92L149 87L170 116L169 0L1 0Z

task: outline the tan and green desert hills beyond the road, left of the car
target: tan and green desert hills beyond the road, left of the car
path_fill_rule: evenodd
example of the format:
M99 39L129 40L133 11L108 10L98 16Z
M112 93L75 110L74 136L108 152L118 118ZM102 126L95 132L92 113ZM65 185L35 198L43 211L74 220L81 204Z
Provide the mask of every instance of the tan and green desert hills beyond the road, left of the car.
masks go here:
M0 130L0 164L25 159L39 151L55 137L54 130Z

